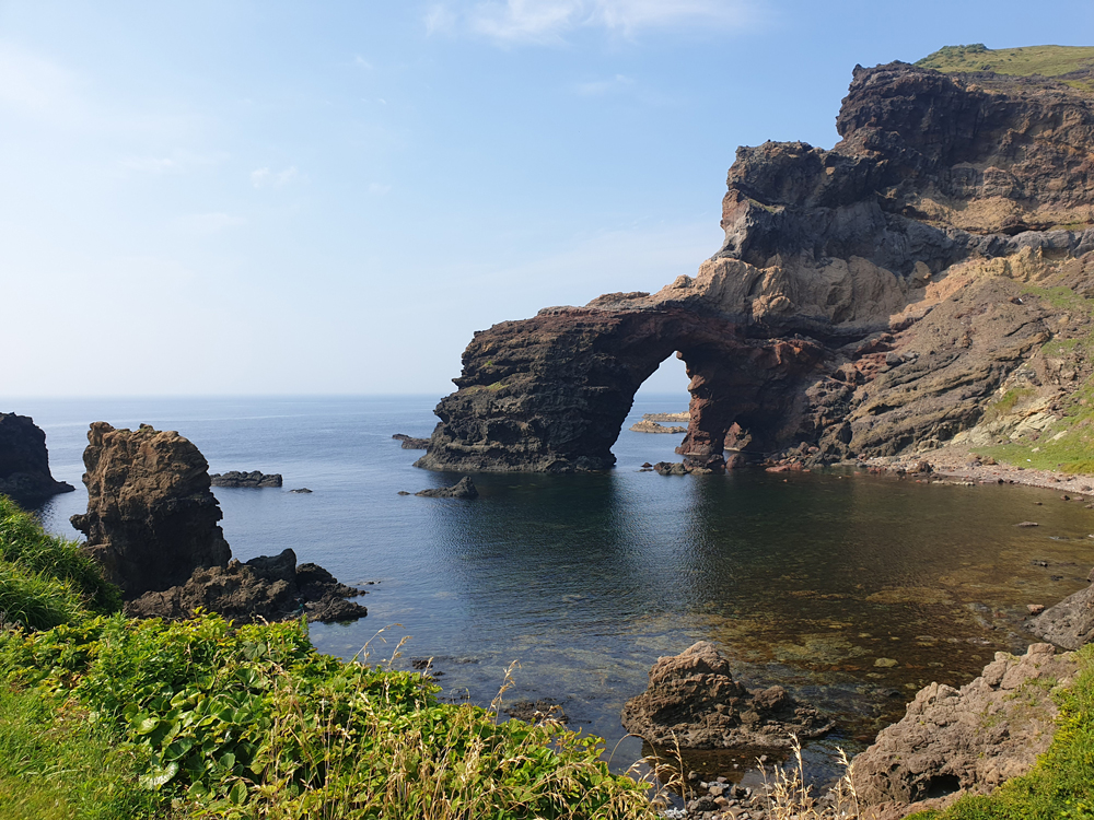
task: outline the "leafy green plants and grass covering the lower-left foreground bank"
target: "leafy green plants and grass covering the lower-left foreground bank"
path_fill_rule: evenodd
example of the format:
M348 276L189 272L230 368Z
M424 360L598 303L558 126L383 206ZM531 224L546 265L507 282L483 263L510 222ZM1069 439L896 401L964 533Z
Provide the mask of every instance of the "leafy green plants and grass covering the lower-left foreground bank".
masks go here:
M74 544L2 503L5 565L61 604L0 630L0 820L654 817L598 738L440 703L419 673L317 653L303 623L109 613Z

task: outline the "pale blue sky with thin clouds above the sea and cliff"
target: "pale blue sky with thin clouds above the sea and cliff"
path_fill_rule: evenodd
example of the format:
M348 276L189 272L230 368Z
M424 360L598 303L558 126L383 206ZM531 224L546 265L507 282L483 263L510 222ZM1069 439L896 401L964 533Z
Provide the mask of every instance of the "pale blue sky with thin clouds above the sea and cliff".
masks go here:
M1037 8L0 0L0 398L441 396L476 330L695 272L737 145L830 148L856 63L1094 45Z

